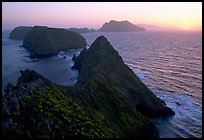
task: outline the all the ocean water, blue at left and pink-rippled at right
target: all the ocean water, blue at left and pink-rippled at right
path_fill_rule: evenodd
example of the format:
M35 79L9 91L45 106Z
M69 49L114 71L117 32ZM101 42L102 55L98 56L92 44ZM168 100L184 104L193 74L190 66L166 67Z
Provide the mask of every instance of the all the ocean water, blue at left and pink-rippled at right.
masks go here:
M34 69L61 85L74 85L77 71L71 70L73 54L46 59L30 59L19 45L2 32L2 92L7 82L16 84L20 69ZM125 64L176 115L153 119L161 138L202 137L202 33L201 32L93 32L82 34L87 48L105 36L119 52Z

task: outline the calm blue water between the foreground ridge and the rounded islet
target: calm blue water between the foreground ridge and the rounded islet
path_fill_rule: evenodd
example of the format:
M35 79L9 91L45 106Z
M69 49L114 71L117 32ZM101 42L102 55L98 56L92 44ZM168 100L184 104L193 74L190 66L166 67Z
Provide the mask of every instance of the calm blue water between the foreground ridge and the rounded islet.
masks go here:
M73 54L79 55L81 49L65 52L66 58L57 55L44 59L31 59L29 52L20 47L22 41L8 39L9 31L2 32L2 88L7 82L16 84L20 70L33 69L60 85L74 85L78 72L71 70ZM4 93L3 89L2 92Z

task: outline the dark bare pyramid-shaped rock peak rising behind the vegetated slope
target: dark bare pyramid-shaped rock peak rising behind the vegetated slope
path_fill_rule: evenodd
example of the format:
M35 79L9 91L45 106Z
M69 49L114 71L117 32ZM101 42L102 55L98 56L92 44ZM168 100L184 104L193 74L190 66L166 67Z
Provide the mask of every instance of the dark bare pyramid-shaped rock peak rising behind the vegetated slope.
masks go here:
M80 64L75 87L89 89L93 83L95 87L104 85L147 117L175 114L124 64L105 37L98 37L85 55L79 55L75 62L77 66Z

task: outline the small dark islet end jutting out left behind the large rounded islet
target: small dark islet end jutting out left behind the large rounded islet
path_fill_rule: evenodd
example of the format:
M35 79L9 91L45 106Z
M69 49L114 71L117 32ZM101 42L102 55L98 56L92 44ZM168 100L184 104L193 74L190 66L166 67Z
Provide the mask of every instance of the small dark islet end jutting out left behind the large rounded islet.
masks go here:
M15 27L9 34L9 39L23 40L32 27L19 26Z

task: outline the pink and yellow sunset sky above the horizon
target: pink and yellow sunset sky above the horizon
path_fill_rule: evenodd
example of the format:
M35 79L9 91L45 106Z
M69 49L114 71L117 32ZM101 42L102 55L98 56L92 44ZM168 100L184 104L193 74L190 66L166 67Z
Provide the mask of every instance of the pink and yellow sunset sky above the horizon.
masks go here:
M2 2L2 28L100 28L128 20L167 29L202 31L202 2Z

